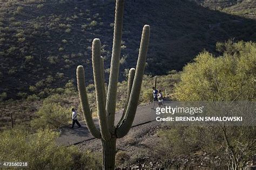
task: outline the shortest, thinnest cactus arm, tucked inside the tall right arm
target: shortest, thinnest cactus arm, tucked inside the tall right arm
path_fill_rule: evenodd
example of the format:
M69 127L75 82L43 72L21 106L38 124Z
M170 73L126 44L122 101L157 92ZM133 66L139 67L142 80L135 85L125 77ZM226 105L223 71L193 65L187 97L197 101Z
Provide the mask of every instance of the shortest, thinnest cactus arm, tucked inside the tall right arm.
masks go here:
M127 97L126 97L124 112L123 112L123 115L120 118L120 121L118 122L117 126L119 126L124 121L123 118L125 116L125 111L126 111L127 105L129 103L130 94L131 94L131 90L132 90L132 84L133 84L133 80L134 80L134 75L135 75L135 68L131 68L129 71L128 89L127 89Z

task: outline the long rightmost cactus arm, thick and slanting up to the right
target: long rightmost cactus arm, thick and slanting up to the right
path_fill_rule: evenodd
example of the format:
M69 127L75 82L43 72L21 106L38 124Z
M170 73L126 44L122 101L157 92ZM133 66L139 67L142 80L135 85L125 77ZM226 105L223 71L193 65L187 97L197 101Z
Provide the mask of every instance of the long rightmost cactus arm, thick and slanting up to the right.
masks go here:
M144 74L145 63L146 63L147 48L149 47L149 38L150 38L150 26L145 25L143 27L142 40L140 41L139 57L137 61L131 95L130 95L129 103L127 105L127 109L125 111L125 117L124 117L125 121L122 122L122 124L120 124L116 129L117 138L122 138L129 132L136 110L137 110L137 106L139 102L139 94L140 94L140 89L142 87L142 80L143 80L143 74Z

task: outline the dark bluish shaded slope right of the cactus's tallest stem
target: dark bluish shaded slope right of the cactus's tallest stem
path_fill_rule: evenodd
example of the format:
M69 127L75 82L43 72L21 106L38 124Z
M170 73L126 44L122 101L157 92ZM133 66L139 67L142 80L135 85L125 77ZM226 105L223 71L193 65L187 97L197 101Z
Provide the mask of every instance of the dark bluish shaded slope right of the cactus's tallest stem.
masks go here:
M137 56L130 47L134 42L139 46L144 24L151 26L147 73L152 74L181 70L204 49L216 53L214 49L218 41L230 38L256 40L256 21L252 19L210 10L184 0L126 1L123 30L130 32L124 34L123 40L131 55Z

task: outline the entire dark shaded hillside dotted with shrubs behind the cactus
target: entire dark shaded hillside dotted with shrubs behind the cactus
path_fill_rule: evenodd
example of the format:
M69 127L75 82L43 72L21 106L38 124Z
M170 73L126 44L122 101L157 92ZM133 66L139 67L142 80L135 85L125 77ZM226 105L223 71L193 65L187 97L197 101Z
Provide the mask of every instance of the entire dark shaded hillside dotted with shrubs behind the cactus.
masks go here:
M108 79L113 1L0 1L0 100L47 97L76 84L83 65L93 83L91 43L102 40ZM210 10L190 1L125 1L120 81L136 65L140 34L151 25L147 75L181 70L194 56L229 38L255 41L255 20Z

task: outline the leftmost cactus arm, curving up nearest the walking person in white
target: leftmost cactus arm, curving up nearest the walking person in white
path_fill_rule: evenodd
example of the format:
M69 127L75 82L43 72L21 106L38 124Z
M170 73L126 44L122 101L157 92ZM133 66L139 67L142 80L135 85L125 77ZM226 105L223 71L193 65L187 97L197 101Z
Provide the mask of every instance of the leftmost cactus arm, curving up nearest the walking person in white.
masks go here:
M99 130L96 128L95 124L92 120L91 110L89 107L89 103L87 100L86 88L85 88L85 78L84 78L84 67L78 66L77 67L77 88L80 97L80 102L82 104L82 110L84 119L87 125L87 128L91 132L91 134L96 138L101 138L101 134Z

